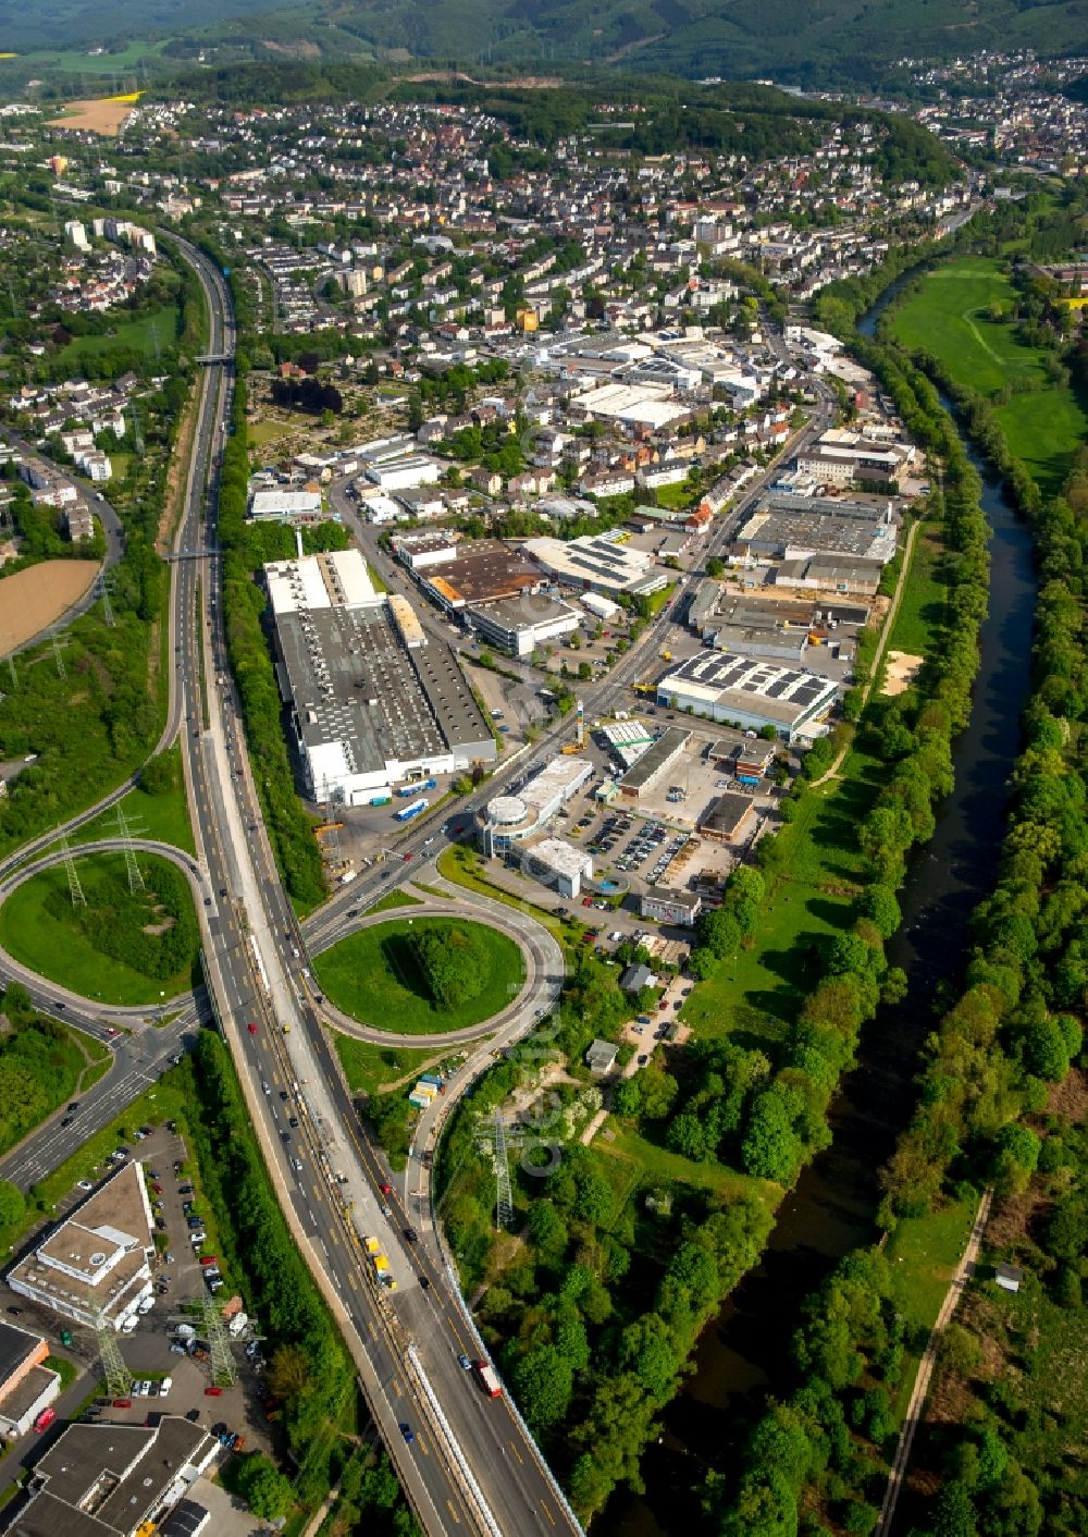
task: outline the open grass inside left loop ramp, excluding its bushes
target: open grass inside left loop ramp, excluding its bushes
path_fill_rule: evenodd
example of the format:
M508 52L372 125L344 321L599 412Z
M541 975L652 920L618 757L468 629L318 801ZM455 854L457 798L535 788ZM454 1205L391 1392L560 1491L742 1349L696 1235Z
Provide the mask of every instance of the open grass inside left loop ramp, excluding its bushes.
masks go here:
M157 865L158 859L154 856L140 855L140 868L149 890L154 890ZM111 871L115 876L120 868L124 879L121 855L88 855L77 859L75 868L91 907ZM25 881L0 908L0 944L23 965L81 998L121 1007L161 1004L192 987L195 953L189 965L172 978L160 981L143 976L121 961L101 954L74 925L54 918L46 910L46 902L54 893L68 901L68 878L63 867L43 870Z

